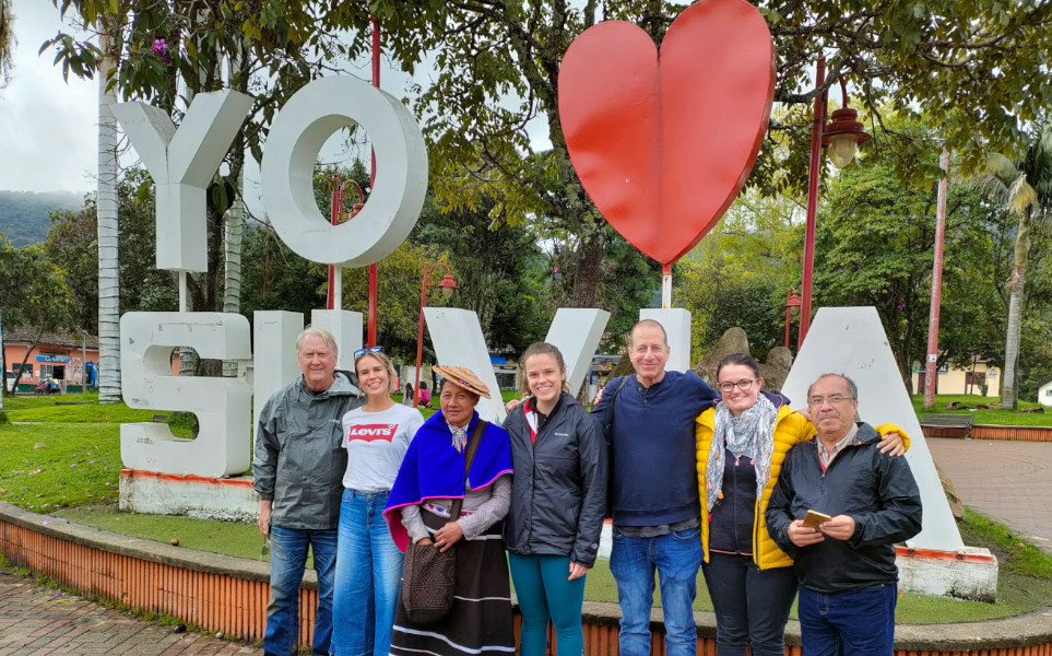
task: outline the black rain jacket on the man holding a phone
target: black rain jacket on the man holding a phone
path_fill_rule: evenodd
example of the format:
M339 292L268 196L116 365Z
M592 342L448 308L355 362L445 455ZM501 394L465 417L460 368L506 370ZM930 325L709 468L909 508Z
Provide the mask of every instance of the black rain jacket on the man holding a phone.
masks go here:
M794 446L782 462L767 506L767 530L793 557L793 571L808 589L842 593L898 581L895 543L920 532L921 494L906 458L882 454L879 441L872 426L860 423L855 443L837 454L825 472L818 437ZM796 547L789 525L808 509L849 515L854 535Z

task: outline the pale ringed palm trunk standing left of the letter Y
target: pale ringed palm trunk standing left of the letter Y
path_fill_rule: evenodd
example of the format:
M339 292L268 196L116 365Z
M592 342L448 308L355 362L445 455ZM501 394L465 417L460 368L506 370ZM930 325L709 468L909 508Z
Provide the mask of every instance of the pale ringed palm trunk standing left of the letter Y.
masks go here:
M98 402L120 401L120 273L117 251L117 102L107 92L113 39L102 35L98 62Z

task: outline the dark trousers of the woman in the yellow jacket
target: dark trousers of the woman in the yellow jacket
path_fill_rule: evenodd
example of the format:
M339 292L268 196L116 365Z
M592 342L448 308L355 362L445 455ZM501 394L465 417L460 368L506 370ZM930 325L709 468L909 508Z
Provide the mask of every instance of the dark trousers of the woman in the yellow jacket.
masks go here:
M701 565L716 611L718 656L784 656L785 622L796 597L792 567L760 570L750 555L709 551Z

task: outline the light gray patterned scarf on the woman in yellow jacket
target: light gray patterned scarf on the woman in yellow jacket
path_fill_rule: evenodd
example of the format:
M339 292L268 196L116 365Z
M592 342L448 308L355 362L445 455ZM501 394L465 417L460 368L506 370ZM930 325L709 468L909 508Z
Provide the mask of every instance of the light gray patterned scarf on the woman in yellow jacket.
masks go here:
M764 494L764 488L771 476L771 454L775 452L775 422L778 408L763 394L752 408L733 417L726 403L716 407L716 431L709 447L709 462L705 469L708 481L708 509L720 500L723 490L723 467L725 457L749 458L756 468L756 499ZM725 445L725 448L724 448ZM730 453L730 456L726 454Z

